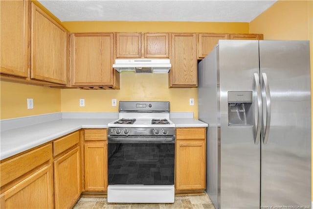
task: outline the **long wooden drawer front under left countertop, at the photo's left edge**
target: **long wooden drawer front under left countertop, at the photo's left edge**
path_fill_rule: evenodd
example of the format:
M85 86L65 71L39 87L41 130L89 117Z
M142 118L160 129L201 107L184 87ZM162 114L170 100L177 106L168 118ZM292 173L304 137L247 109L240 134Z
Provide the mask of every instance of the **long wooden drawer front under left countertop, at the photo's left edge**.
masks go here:
M3 186L52 158L52 145L47 144L0 164Z

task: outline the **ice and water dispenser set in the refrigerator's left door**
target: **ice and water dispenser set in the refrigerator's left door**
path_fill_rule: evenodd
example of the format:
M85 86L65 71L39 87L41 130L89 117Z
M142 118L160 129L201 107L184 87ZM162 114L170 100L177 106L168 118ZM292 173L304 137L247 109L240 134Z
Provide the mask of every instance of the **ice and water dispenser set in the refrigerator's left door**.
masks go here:
M252 92L228 92L228 125L253 125Z

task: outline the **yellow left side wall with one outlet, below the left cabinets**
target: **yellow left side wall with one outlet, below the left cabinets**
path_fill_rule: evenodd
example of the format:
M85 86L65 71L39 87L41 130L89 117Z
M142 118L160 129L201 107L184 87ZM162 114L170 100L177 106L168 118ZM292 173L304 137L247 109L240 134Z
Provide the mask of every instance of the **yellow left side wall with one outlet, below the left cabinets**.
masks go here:
M1 81L1 119L61 111L61 91L47 87ZM27 109L27 98L34 99L34 109Z

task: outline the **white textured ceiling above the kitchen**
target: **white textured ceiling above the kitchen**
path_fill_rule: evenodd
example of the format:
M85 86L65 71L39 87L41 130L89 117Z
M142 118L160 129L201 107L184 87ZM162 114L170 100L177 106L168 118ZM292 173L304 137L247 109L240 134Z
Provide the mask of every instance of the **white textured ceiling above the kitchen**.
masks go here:
M64 21L249 23L276 0L38 0Z

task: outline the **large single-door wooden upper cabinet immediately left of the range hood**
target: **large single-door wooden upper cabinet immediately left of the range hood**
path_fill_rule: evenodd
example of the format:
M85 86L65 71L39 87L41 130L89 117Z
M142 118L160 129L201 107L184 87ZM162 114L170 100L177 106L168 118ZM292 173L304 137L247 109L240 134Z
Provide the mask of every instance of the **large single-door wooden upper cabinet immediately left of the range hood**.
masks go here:
M112 68L114 33L71 34L72 86L119 88L119 73Z

